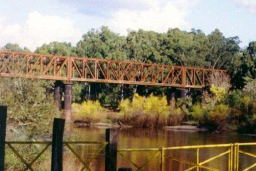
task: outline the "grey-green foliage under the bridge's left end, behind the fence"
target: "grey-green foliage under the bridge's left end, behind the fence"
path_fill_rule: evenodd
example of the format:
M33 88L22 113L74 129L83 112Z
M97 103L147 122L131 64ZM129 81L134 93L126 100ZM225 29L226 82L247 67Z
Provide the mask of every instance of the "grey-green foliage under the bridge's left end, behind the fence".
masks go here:
M17 130L17 137L26 135L26 139L31 139L50 133L49 126L59 112L49 85L42 80L0 79L0 104L8 106L7 125Z

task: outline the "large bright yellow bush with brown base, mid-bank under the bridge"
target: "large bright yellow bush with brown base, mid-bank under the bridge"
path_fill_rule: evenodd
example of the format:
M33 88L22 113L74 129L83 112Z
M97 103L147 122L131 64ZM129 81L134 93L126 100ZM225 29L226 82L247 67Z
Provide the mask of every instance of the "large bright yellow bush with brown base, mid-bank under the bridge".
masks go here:
M178 125L184 118L180 108L171 110L166 97L153 94L144 98L136 93L133 101L125 99L120 103L119 110L120 121L135 127Z

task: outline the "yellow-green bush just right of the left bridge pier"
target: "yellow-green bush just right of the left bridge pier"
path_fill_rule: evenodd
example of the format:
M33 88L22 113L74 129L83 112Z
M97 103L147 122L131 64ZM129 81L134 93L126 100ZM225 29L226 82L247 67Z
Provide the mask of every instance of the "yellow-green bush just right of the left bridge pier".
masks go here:
M84 101L82 104L73 103L72 109L74 110L74 120L86 121L86 123L100 122L106 118L104 108L101 107L99 101Z

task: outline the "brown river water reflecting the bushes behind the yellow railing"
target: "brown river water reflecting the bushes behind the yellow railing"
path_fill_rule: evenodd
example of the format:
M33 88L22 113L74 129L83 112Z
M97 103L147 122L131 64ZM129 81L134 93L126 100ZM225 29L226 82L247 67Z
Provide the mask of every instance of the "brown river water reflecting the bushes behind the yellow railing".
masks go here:
M98 128L73 128L72 134L75 135L76 141L105 141L105 129ZM245 143L256 142L256 136L239 135L237 133L197 133L184 131L164 131L156 129L121 129L118 135L118 149L120 148L159 148L173 146L189 146L189 145L206 145L206 144L227 144L227 143ZM76 149L82 158L86 161L94 151L99 149L99 145L82 145L78 144ZM242 147L241 147L242 148ZM256 146L242 148L245 151L256 153ZM221 148L205 148L200 150L200 162L216 156L228 150L226 147ZM157 152L122 152L127 158L132 160L138 166L143 165L152 155ZM190 162L196 162L196 149L190 150L171 150L165 152L166 156L180 158ZM243 154L239 158L239 170L250 166L256 162L256 158L251 158ZM205 164L219 170L228 169L228 155L224 155L216 160ZM92 162L90 168L92 170L104 170L104 150ZM117 156L117 168L135 167L129 163L120 154ZM183 164L177 161L165 158L164 170L186 170L191 165ZM143 166L142 170L160 170L159 156L155 157L151 162ZM196 170L196 169L194 169ZM200 169L206 170L206 169ZM255 168L256 170L256 168Z

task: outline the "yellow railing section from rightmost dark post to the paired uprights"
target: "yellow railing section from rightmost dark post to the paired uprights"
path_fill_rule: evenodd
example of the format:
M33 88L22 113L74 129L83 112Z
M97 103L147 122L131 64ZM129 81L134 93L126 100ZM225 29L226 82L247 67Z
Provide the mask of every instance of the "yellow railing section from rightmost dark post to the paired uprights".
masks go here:
M222 156L227 155L228 156L228 170L231 171L233 170L233 146L234 144L214 144L214 145L196 145L196 146L178 146L178 147L161 147L161 148L129 148L129 149L118 149L118 154L120 156L122 156L125 160L127 160L128 162L130 162L137 170L142 170L142 168L148 164L149 162L151 162L154 158L156 158L157 156L159 156L160 159L160 170L163 171L164 170L164 161L165 158L169 158L171 160L177 161L177 162L181 162L181 163L185 163L190 165L189 168L186 169L186 171L189 170L194 170L196 169L197 171L200 170L200 168L204 168L206 170L220 170L218 168L212 168L209 166L205 166L205 164L220 158ZM224 152L221 152L220 154L213 156L211 158L208 158L207 160L204 161L200 161L200 150L202 148L227 148L227 150L225 150ZM191 162L188 160L184 160L181 158L175 158L172 156L167 156L165 155L166 151L170 151L170 150L182 150L182 149L194 149L196 152L196 162ZM139 166L138 164L136 164L135 162L131 161L128 157L126 157L123 153L124 152L146 152L146 151L155 151L156 153L154 155L151 155L149 159L147 159L146 162L144 162L141 166Z

